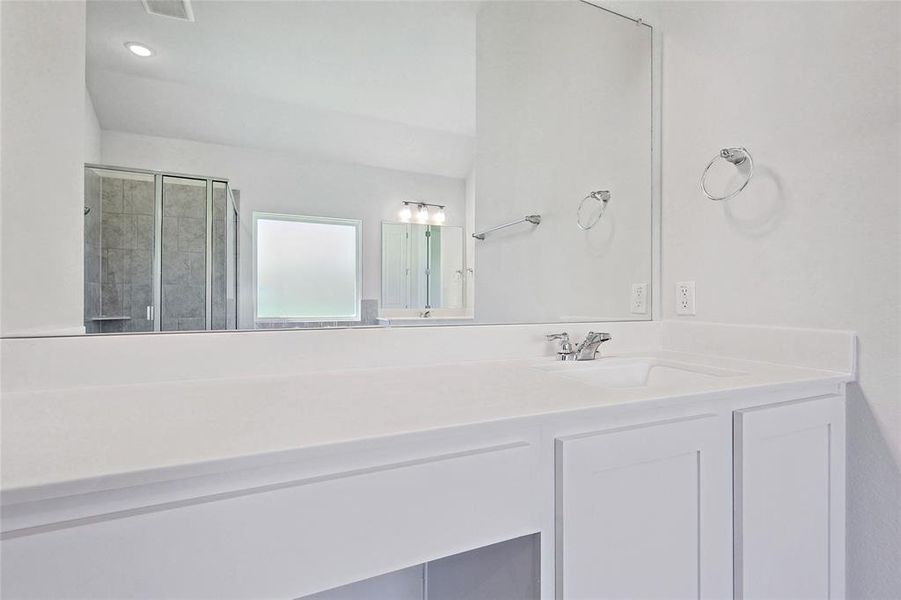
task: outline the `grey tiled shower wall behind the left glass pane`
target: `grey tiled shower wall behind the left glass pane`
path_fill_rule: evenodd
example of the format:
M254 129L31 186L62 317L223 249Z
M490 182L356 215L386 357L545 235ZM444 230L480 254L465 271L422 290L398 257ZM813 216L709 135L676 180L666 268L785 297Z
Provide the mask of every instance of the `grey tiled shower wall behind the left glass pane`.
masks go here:
M102 177L101 197L101 331L152 331L153 181Z

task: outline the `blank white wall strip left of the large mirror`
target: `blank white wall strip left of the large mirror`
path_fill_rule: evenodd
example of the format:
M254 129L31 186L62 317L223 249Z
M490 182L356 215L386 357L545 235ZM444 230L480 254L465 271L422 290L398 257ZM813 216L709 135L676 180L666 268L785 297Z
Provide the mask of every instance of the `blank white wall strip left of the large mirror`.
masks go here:
M85 5L0 11L0 333L83 332Z

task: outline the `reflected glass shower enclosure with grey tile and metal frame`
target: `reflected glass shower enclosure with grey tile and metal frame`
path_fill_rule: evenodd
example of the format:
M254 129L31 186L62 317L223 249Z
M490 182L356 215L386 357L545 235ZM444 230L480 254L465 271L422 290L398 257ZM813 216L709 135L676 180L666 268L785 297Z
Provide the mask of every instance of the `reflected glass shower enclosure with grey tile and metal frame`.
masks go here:
M228 180L86 165L84 212L87 333L237 327Z

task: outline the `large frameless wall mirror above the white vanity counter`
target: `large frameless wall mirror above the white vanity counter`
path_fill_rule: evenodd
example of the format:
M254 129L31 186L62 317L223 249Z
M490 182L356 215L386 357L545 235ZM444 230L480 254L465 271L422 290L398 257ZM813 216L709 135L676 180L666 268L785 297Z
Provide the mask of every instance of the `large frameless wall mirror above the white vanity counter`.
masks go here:
M90 0L86 88L86 334L650 318L645 24Z

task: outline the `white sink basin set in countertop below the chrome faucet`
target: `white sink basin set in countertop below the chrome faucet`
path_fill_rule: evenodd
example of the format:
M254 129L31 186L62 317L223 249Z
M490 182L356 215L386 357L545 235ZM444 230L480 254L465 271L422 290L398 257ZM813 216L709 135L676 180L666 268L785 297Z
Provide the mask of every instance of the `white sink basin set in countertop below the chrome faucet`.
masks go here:
M599 358L555 362L539 368L553 375L603 388L703 384L723 377L744 375L740 371L660 358Z

